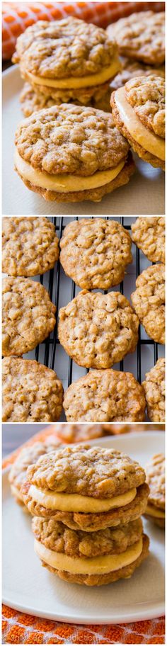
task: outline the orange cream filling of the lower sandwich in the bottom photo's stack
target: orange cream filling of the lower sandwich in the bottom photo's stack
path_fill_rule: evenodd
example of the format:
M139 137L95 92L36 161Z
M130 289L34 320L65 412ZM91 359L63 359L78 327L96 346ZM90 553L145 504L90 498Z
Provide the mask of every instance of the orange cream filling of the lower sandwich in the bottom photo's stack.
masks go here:
M48 550L45 545L35 539L35 553L40 559L55 567L56 570L65 570L71 574L108 574L115 572L122 567L133 563L142 553L143 540L139 538L137 543L127 548L122 554L110 554L105 556L96 556L93 558L73 558L67 554L56 553Z

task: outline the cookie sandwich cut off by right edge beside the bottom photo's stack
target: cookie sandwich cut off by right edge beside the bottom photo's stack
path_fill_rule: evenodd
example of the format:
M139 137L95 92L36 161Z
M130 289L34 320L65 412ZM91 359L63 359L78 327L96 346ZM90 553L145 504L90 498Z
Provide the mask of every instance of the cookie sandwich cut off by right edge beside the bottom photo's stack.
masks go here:
M149 485L149 498L144 516L159 527L165 527L165 456L153 455L146 465L146 481Z

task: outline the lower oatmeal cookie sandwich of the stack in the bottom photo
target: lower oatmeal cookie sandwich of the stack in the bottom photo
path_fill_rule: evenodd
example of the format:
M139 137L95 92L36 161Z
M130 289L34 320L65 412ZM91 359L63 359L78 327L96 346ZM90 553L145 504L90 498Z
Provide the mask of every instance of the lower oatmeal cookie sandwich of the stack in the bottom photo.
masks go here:
M148 555L141 519L87 533L35 517L32 528L42 565L71 583L99 586L129 579Z

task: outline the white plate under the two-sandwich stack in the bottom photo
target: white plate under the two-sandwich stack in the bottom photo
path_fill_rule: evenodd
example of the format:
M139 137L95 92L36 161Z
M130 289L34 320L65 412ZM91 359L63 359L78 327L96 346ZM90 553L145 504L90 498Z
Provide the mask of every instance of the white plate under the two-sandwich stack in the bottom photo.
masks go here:
M144 466L164 451L164 433L132 433L91 444L123 450ZM4 472L3 601L16 610L71 623L126 623L164 612L164 534L144 520L150 554L131 579L87 588L63 582L40 565L33 551L30 518L13 501Z

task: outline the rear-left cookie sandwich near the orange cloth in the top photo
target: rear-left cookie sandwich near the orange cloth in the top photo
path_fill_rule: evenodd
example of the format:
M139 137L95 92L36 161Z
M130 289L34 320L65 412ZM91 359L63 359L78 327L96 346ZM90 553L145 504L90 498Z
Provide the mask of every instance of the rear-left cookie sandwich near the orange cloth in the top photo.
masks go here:
M37 101L96 106L120 69L113 36L78 18L38 21L19 36L13 62ZM44 107L41 105L41 107Z

